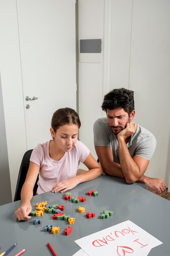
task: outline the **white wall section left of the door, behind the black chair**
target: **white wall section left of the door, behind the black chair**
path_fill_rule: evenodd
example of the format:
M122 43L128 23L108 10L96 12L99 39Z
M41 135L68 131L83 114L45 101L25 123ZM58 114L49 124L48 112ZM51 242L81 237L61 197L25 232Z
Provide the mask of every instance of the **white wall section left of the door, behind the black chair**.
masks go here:
M17 9L13 0L0 1L0 73L11 191L14 197L20 164L26 152L26 134Z

